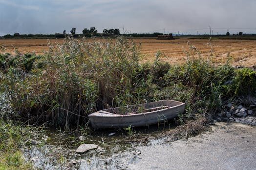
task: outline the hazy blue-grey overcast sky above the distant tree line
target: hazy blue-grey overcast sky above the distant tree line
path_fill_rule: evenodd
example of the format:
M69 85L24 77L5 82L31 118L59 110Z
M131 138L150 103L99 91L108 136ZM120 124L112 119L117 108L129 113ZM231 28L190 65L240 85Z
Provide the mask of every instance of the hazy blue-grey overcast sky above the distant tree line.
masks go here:
M256 33L256 0L0 0L0 35L74 27L204 34L209 25L214 34Z

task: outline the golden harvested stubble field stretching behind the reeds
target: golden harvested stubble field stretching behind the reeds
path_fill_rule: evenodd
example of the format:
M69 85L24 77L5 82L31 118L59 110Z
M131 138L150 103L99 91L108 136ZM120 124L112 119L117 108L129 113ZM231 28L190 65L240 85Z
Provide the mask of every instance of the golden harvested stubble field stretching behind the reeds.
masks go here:
M141 44L143 54L142 62L153 61L154 53L162 51L166 57L162 61L171 64L178 64L186 61L188 51L188 40L202 52L204 58L209 58L211 47L207 44L208 39L187 39L180 38L175 40L157 40L153 38L134 38L135 43ZM61 43L63 39L50 39L51 43ZM102 39L97 39L102 41ZM5 52L14 53L16 48L21 53L35 52L37 54L48 50L47 39L0 39L0 44L6 48ZM231 64L234 66L256 66L256 40L232 40L232 39L213 39L214 64L226 63L228 53L232 56Z

